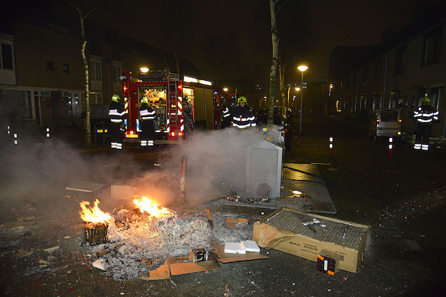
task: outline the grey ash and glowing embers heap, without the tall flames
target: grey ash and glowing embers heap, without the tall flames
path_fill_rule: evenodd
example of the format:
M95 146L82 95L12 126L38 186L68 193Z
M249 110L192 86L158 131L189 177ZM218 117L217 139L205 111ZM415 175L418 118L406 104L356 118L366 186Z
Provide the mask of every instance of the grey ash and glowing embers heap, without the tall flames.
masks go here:
M231 216L229 214L214 214L215 225L220 227L212 230L206 214L199 211L180 218L173 210L157 208L156 204L152 207L156 207L156 214L141 212L139 208L119 207L106 222L84 224L85 242L100 259L96 267L103 269L108 278L140 278L164 264L167 258L187 256L197 248L210 252L213 240L219 243L240 238L245 240L252 234L252 225L240 225L236 230L224 227L226 216ZM107 226L106 243L103 236L95 237L100 239L98 241L89 238L89 234L94 233L92 226L103 232L104 225Z

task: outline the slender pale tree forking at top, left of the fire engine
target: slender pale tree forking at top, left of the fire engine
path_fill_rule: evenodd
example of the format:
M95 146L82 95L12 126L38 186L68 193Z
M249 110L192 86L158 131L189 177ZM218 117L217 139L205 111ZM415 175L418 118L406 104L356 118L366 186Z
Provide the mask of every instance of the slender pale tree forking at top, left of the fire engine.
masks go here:
M81 56L82 61L84 62L84 75L85 75L85 102L86 102L86 129L85 129L85 143L86 145L91 145L91 120L90 120L90 72L89 72L89 63L86 60L86 35L85 35L85 26L84 26L84 20L86 17L88 17L93 11L98 10L100 7L95 7L89 9L88 13L83 13L82 9L79 8L79 6L75 5L72 2L69 2L72 7L74 7L77 10L77 13L79 14L79 24L80 24L80 33L81 33Z

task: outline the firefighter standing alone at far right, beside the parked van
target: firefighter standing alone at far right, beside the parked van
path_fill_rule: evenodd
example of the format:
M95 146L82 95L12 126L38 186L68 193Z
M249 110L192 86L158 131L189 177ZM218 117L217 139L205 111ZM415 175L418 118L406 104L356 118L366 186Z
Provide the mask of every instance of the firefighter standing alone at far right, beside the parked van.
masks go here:
M416 125L415 150L429 150L429 136L434 121L438 120L438 111L431 106L431 99L424 97L421 99L421 106L413 111L413 118Z

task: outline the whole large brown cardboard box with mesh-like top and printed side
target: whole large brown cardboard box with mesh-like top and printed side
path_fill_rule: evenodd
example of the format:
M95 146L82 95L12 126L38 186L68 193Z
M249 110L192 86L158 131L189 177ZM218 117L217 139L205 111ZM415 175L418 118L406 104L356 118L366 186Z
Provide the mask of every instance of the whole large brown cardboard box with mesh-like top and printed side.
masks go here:
M339 268L355 273L364 259L369 230L367 225L281 208L254 223L252 237L261 248L275 248L314 262L322 250L337 252Z

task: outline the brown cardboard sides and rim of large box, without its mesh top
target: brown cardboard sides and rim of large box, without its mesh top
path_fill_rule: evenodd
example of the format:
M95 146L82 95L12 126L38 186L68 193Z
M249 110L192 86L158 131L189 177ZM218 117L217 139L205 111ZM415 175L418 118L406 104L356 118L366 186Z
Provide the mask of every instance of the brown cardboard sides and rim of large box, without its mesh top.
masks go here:
M339 223L346 226L364 228L365 232L360 239L357 248L351 248L329 241L321 241L318 239L314 239L311 236L305 236L295 232L278 229L277 227L269 225L268 220L273 218L276 214L279 214L279 212L282 210L292 211L297 214L304 214L312 218L318 218L325 221L325 223L333 222L334 224ZM316 230L316 232L323 232L322 227L312 225L312 228ZM358 266L364 259L364 248L365 242L367 240L367 234L369 233L369 228L370 227L367 225L360 225L344 220L336 220L325 216L308 214L303 211L296 211L295 209L281 208L277 209L277 211L272 212L272 214L268 215L266 218L263 218L260 221L254 223L254 231L252 237L253 240L256 241L256 243L261 248L275 248L276 250L288 252L292 255L303 257L315 262L317 261L318 254L322 250L337 252L340 255L339 268L355 273L357 272Z

